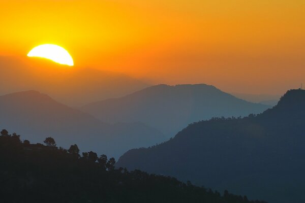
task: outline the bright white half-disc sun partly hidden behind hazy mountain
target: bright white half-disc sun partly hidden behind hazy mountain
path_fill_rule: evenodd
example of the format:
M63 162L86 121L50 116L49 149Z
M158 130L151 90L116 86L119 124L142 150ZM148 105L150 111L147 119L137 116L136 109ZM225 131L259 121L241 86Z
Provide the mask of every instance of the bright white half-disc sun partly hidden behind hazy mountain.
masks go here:
M54 44L44 44L34 47L28 52L27 56L47 58L64 65L74 65L73 58L69 52L63 47Z

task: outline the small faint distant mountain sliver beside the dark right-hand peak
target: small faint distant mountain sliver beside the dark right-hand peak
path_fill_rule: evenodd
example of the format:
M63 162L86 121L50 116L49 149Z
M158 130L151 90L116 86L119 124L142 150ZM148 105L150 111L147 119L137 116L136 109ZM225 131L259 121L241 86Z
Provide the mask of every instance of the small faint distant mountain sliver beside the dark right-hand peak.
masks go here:
M237 98L244 99L253 103L259 103L268 106L276 106L279 102L280 95L273 94L246 94L246 93L232 93Z

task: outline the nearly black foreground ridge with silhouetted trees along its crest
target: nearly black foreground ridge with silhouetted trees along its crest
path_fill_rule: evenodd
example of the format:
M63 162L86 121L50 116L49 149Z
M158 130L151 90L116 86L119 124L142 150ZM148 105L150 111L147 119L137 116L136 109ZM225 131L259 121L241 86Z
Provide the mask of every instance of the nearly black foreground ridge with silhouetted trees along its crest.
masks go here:
M1 131L1 202L264 202L228 191L221 195L171 177L114 169L115 160L105 155L80 156L77 145L57 148L52 138L44 143L21 142L16 133Z

